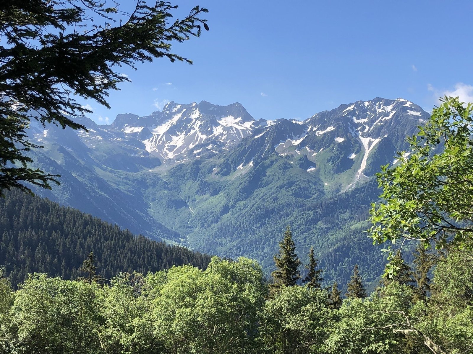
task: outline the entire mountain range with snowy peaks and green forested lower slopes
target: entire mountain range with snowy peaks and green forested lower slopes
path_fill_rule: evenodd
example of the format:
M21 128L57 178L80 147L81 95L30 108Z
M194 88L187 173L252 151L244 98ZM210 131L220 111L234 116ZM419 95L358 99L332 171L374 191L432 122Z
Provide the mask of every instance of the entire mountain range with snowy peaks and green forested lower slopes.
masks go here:
M373 175L408 148L429 113L404 99L342 104L302 121L254 119L240 103L170 102L139 117L119 114L88 131L32 123L44 149L35 166L61 175L35 192L155 239L272 269L290 225L303 260L315 247L325 278L352 266L379 274L366 234ZM368 282L375 278L365 277Z

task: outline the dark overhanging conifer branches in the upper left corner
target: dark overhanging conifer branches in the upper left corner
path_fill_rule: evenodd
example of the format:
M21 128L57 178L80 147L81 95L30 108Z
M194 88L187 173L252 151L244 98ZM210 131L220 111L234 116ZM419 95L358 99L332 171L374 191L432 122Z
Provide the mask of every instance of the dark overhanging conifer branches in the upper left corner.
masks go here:
M32 119L87 130L74 118L92 111L75 97L110 108L110 91L130 81L115 67L155 58L192 63L172 53L172 43L198 37L201 24L209 29L201 18L208 10L199 6L176 21L170 18L177 6L168 1L136 1L130 14L116 7L97 0L0 2L0 197L12 187L31 193L22 181L48 189L58 183L58 175L28 165L26 152L40 147L27 138ZM102 21L96 25L94 17Z

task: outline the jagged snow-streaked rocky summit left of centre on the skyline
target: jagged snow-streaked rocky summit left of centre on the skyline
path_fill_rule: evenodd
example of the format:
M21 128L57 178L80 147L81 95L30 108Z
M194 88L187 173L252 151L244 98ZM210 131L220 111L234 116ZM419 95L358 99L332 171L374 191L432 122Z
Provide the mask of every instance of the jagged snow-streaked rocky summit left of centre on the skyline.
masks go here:
M167 103L161 112L138 117L120 114L111 128L136 138L162 162L185 161L228 151L264 122L256 122L240 103Z

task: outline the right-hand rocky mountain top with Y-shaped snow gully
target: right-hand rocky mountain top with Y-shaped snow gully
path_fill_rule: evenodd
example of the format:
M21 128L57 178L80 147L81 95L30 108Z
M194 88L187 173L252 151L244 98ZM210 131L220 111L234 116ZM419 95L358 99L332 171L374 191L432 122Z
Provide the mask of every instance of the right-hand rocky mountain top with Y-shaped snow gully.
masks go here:
M353 186L367 179L387 162L394 163L396 151L408 148L406 135L412 135L429 114L404 99L375 98L357 101L315 114L304 121L285 120L260 127L231 153L230 170L272 153L280 156L306 156L307 172L336 180L345 173L344 185ZM317 165L326 165L324 170ZM226 171L228 169L225 169ZM327 181L328 182L328 181Z

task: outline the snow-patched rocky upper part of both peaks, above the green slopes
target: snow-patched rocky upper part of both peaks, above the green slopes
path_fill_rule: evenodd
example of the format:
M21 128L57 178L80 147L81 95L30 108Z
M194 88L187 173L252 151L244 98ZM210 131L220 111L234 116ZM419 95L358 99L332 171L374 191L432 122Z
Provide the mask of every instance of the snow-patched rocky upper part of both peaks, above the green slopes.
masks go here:
M345 165L350 166L348 162L353 160L349 156L356 155L356 149L364 151L368 159L375 145L383 145L387 140L394 141L396 147L401 146L405 129L400 126L409 126L411 133L411 127L428 118L427 112L403 98L391 100L375 97L368 101L341 104L304 121L256 121L239 102L222 106L208 101L188 104L171 101L162 111L154 111L148 116L140 117L132 113L117 115L110 126L110 134L115 131L113 134L117 134L118 140L125 140L142 151L140 153L158 157L163 163L168 161L170 164L204 156L210 158L233 150L245 138L256 139L258 144L262 144L254 150L260 157L272 153L296 155L306 149L308 156L311 156L309 160L318 159L317 154L333 144L338 146L336 151L339 152L350 142L351 147L343 148L346 156L340 160L346 160ZM250 158L249 155L247 157ZM367 160L361 162L365 166ZM364 167L360 168L357 176L363 176L364 170Z

